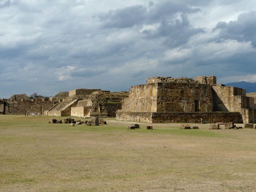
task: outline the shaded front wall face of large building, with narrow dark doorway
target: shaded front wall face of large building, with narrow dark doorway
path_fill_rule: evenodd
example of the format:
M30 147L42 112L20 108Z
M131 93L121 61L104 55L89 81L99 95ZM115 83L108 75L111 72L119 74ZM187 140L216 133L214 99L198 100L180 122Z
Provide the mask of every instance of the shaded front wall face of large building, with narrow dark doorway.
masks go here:
M199 112L212 111L212 88L209 84L158 83L157 85L157 112L194 112L195 100L199 102Z

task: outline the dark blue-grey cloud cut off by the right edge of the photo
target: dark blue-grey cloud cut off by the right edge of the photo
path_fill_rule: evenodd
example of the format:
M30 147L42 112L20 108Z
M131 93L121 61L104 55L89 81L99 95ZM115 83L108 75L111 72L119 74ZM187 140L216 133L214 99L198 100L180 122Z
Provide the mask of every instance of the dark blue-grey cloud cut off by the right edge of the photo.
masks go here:
M213 31L216 30L219 30L216 41L250 41L252 46L256 47L256 12L242 13L236 21L218 22Z

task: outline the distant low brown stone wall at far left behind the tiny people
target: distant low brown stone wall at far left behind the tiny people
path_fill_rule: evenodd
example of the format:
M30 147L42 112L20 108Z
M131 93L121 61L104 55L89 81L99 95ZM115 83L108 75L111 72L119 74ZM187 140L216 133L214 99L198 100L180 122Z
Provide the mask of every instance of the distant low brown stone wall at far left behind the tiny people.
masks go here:
M5 114L20 115L27 111L44 114L44 111L52 108L56 103L50 101L6 101Z

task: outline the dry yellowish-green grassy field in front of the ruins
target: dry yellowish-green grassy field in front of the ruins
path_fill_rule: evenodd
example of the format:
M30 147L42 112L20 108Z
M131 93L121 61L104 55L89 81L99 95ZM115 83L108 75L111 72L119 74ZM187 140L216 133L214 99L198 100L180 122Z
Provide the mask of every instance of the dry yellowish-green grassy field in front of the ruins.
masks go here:
M48 122L47 116L0 116L0 191L256 189L254 129Z

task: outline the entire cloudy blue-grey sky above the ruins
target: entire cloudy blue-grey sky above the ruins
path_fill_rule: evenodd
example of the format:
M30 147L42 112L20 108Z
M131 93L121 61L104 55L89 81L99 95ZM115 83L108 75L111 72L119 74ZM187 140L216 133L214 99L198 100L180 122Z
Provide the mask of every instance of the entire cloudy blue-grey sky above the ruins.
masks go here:
M0 0L1 98L202 75L256 82L256 1Z

